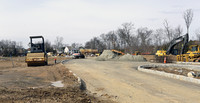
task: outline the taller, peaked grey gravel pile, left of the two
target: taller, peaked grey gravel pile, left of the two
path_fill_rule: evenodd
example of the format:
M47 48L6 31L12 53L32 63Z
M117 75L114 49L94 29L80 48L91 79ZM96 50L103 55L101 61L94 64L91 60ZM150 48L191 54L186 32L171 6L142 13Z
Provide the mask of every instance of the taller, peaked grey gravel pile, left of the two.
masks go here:
M111 50L104 50L103 53L97 57L98 61L105 61L116 58L118 55L113 53Z

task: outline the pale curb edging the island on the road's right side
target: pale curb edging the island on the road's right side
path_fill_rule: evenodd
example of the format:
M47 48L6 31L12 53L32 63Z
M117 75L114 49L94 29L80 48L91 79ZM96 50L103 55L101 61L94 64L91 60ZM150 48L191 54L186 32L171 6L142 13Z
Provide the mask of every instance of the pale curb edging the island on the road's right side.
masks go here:
M171 74L171 73L165 73L165 72L161 72L161 71L149 70L149 69L145 69L144 67L150 67L150 66L149 65L148 66L145 66L145 65L138 66L138 70L142 71L142 72L146 72L146 73L165 76L165 77L168 77L168 78L173 78L173 79L178 79L178 80L182 80L182 81L187 81L187 82L191 82L191 83L200 84L200 79L195 79L195 78L186 77L186 76L182 76L182 75ZM153 65L152 65L152 67L153 67Z

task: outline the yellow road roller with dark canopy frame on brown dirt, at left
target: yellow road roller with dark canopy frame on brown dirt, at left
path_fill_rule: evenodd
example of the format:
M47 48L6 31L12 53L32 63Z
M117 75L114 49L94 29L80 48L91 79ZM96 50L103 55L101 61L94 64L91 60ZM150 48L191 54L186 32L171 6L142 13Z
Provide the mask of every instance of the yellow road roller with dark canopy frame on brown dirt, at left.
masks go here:
M41 39L39 42L33 42ZM30 36L30 52L27 53L25 61L27 66L48 65L48 56L45 51L44 38L42 36Z

